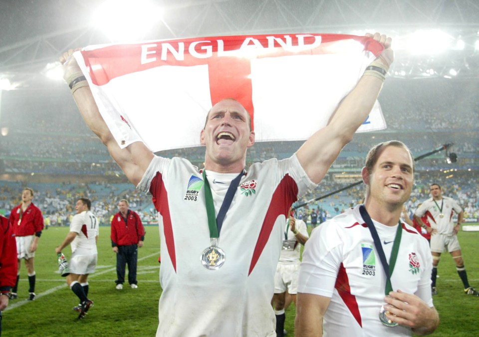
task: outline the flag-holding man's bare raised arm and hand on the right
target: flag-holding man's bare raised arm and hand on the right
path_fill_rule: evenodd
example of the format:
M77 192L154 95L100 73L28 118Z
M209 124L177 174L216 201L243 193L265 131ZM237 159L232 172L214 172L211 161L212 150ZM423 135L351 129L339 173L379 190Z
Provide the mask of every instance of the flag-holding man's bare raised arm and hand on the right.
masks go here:
M384 45L383 52L372 65L387 71L394 59L391 38L379 33L366 36ZM323 179L341 149L352 140L354 132L366 120L376 102L384 78L376 70L369 70L368 74L372 76L361 77L339 104L328 125L315 132L296 153L308 177L316 184Z

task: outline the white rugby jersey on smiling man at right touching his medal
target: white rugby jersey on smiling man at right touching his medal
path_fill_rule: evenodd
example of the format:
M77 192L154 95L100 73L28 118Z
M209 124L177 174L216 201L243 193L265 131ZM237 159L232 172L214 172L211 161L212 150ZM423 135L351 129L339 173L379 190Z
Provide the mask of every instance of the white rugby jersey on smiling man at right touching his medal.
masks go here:
M398 225L373 223L389 262ZM414 228L401 226L393 290L415 294L432 307L428 241ZM388 328L379 321L385 286L386 276L359 206L312 232L303 251L298 293L331 298L323 320L324 336L411 336L409 328Z

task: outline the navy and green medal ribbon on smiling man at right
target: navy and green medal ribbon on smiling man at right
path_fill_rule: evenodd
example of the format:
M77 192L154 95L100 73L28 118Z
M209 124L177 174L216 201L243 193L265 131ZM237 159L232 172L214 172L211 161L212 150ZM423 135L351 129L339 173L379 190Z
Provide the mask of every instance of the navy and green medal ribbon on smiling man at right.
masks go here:
M374 246L378 251L379 260L381 261L381 265L383 265L384 273L386 274L386 288L384 293L388 295L389 292L393 291L393 286L391 285L391 275L393 274L394 266L396 265L399 244L401 243L401 236L403 232L401 221L399 221L398 223L398 230L396 231L396 237L394 238L393 243L393 250L391 252L391 258L389 259L388 265L388 262L386 261L386 255L383 251L383 246L381 245L381 240L379 240L378 232L376 231L376 227L374 227L373 221L371 220L371 217L369 216L368 211L366 211L364 205L359 206L359 213L361 214L361 217L363 218L366 225L368 225L369 232L373 237Z

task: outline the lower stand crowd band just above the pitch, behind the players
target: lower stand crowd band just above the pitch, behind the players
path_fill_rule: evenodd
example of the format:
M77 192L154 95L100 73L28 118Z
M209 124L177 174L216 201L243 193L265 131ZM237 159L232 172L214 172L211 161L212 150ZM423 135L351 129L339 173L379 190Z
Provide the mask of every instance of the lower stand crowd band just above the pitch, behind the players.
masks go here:
M417 208L418 204L428 198L429 186L431 183L439 183L443 186L445 196L451 196L458 200L465 210L466 218L479 218L479 190L477 178L471 172L454 174L447 178L441 172L424 172L417 176L415 188L411 198L407 202L410 215ZM297 216L310 221L311 212L317 212L318 222L321 223L337 214L344 212L347 208L361 203L364 199L364 185L340 189L350 186L348 183L324 180L318 188L305 195L295 203ZM21 182L0 183L0 210L8 212L20 203L21 190L26 187ZM109 225L113 214L118 212L118 201L127 199L130 208L137 211L145 223L156 223L157 214L151 201L151 197L137 191L131 184L109 184L104 182L96 183L61 183L29 184L35 190L33 203L43 212L45 219L49 218L51 226L68 226L71 217L75 213L74 205L78 198L87 197L92 200L92 211L100 219L102 225ZM332 194L322 198L327 194ZM320 198L320 200L315 200Z

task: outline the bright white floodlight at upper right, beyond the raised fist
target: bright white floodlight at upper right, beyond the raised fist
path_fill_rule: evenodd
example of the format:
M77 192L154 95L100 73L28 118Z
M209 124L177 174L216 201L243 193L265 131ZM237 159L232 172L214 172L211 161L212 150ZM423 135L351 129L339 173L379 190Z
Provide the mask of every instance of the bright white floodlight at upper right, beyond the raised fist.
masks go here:
M440 29L420 29L409 35L407 48L411 54L437 54L449 48L453 37Z

